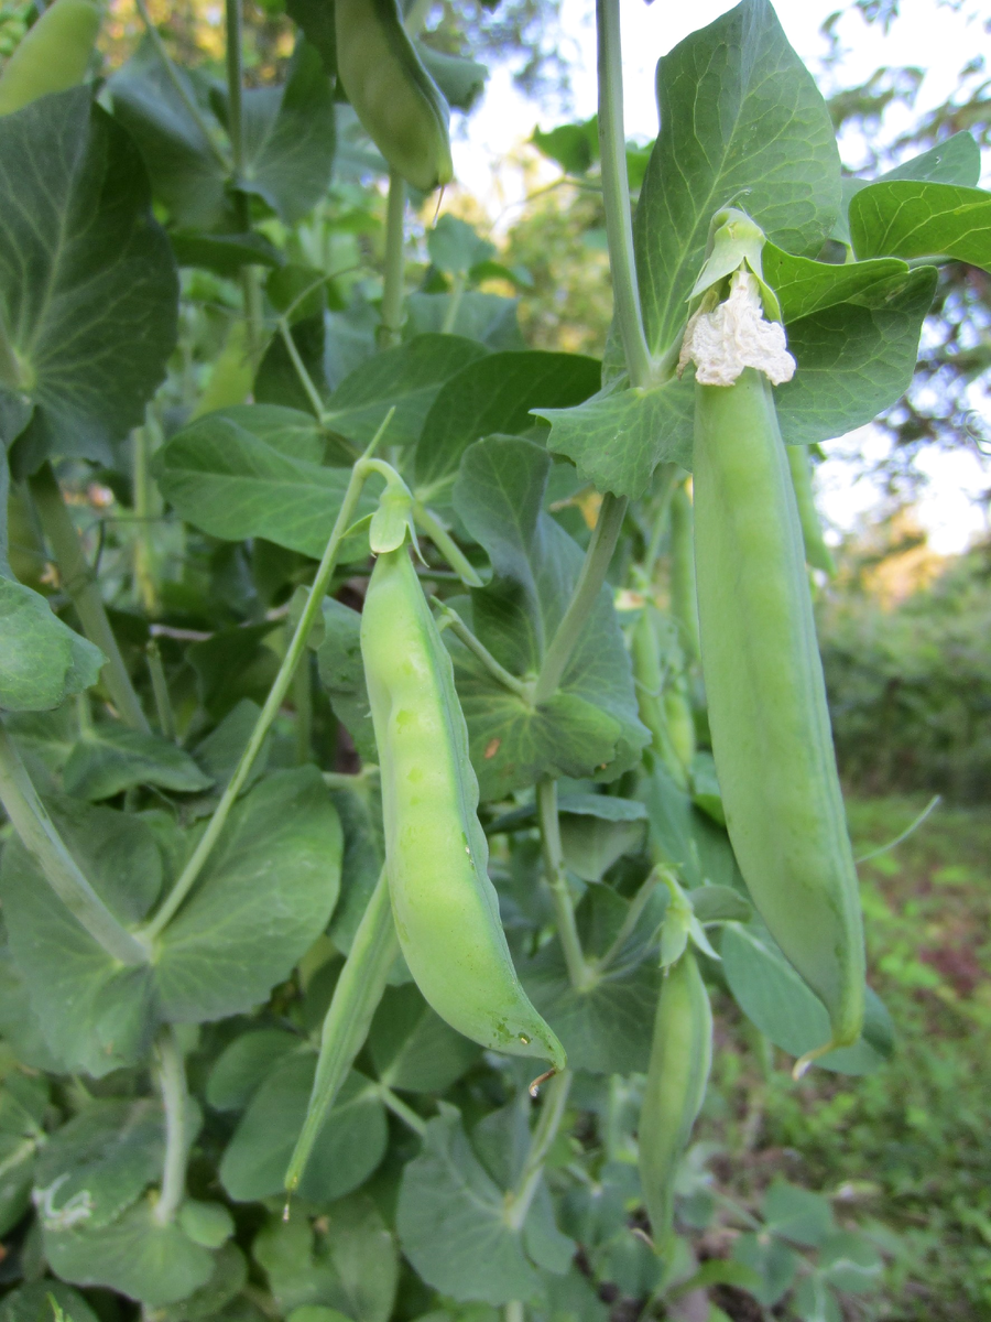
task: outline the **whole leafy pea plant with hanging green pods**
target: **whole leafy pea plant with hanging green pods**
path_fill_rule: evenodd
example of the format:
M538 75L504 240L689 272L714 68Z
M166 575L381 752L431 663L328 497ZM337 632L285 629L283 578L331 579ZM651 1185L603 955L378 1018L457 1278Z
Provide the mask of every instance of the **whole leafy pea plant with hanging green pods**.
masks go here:
M807 447L991 270L974 139L843 177L743 0L633 206L597 0L542 141L601 189L600 362L432 218L485 70L422 7L289 0L279 86L239 0L226 79L137 7L107 78L90 0L0 73L0 1319L869 1314L873 1243L692 1132L714 999L797 1077L893 1048Z

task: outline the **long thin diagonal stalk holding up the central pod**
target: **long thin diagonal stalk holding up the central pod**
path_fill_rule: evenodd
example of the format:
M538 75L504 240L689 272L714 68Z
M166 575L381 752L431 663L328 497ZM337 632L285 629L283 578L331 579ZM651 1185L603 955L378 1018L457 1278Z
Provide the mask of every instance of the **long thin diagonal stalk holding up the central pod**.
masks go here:
M309 591L309 598L307 599L303 615L300 616L300 623L296 625L296 632L293 633L292 641L285 650L283 662L279 666L279 673L272 682L272 687L266 698L264 706L262 707L255 728L251 732L251 738L247 742L247 747L240 755L240 760L238 761L234 775L227 783L227 788L223 791L221 801L214 809L210 824L201 836L200 843L184 867L182 874L172 890L172 894L148 924L145 929L145 936L148 937L157 936L159 932L161 932L196 884L203 863L217 843L217 839L227 822L230 810L248 777L251 767L255 763L255 758L258 758L262 744L264 743L266 735L268 734L272 722L279 715L283 698L288 693L299 660L305 650L307 639L309 637L309 632L313 628L317 615L320 613L324 596L330 584L330 579L333 578L334 568L337 567L337 557L341 550L341 542L344 541L345 534L348 533L348 529L354 518L354 512L358 506L365 479L370 472L375 471L377 460L371 459L371 455L382 438L382 431L383 428L379 428L362 459L359 459L351 469L351 480L344 493L341 509L337 514L333 531L330 533L330 541L326 543L326 550L324 551L324 558L320 562L316 578L313 579L313 587Z

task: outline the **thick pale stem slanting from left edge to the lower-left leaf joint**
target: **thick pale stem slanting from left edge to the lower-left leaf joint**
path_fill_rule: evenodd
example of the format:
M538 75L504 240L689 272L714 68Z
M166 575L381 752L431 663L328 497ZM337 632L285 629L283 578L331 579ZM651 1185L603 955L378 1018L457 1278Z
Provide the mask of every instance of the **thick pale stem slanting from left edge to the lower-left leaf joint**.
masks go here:
M147 964L148 949L111 914L66 849L1 723L0 802L52 890L94 941L120 964Z

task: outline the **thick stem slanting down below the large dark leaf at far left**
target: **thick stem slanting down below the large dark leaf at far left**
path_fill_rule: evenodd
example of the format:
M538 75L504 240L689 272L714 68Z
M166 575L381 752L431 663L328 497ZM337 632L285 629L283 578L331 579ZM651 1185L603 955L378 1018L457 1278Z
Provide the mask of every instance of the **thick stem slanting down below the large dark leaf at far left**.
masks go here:
M83 632L90 642L100 649L107 658L103 668L103 680L114 701L114 706L120 713L122 720L132 730L148 731L148 720L141 711L137 694L131 683L131 677L124 666L118 640L107 619L103 598L94 580L86 555L75 530L65 498L59 490L54 469L50 463L45 463L28 481L34 506L45 530L45 537L52 547L58 572L66 592L73 599L73 604L82 621Z

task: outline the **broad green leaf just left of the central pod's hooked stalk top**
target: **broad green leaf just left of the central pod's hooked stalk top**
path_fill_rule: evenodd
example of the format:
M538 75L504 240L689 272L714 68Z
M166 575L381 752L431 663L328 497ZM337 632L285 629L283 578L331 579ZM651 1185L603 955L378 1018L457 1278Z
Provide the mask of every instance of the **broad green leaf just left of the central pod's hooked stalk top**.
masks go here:
M264 537L318 559L350 479L346 468L322 467L324 446L308 414L239 405L178 431L156 455L156 476L165 498L205 533ZM366 488L355 518L373 509Z

